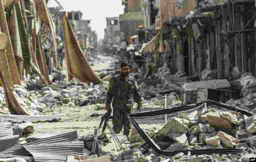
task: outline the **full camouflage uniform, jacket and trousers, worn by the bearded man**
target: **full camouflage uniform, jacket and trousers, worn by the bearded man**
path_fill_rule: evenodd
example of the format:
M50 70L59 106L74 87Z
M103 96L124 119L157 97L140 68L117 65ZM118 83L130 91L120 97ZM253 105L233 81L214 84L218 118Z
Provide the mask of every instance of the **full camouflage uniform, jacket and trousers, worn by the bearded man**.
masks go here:
M134 101L141 106L141 96L138 94L137 81L134 77L128 75L127 80L124 80L119 74L110 79L106 104L110 105L113 98L113 130L116 134L119 134L124 127L123 134L129 135L131 123L128 114L132 112L132 94Z

